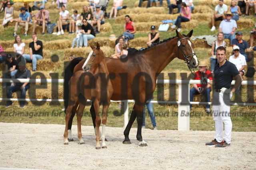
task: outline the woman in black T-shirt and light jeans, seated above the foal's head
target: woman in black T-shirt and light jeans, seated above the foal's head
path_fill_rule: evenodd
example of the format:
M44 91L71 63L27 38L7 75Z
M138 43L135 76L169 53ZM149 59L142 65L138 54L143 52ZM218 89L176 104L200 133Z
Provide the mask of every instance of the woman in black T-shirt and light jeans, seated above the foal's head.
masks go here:
M87 22L86 18L84 18L84 20L83 20L81 33L82 33L82 35L80 35L80 38L79 38L79 48L82 48L83 41L84 41L84 47L87 47L88 40L94 39L96 35L94 33L92 25L90 25Z

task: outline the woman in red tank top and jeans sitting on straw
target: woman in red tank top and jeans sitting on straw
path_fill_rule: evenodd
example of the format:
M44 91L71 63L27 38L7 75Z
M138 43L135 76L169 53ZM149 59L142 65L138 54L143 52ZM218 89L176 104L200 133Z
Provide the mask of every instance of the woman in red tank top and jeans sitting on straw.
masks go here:
M128 44L129 39L134 39L134 33L136 33L136 24L130 16L125 16L126 23L124 24L123 38L126 44Z

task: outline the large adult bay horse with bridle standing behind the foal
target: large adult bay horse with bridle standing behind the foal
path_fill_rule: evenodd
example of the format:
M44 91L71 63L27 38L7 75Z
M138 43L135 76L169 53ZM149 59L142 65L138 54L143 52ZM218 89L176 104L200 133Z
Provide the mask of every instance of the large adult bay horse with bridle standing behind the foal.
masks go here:
M156 79L158 74L176 57L184 60L188 68L197 68L199 61L193 50L194 44L190 41L193 30L187 35L181 35L176 30L176 37L165 39L164 41L153 45L144 50L138 50L124 59L112 59L106 57L106 64L114 89L111 100L132 100L135 99L135 104L132 109L130 120L126 129L124 130L123 144L131 144L129 139L130 129L133 122L137 118L137 135L136 138L140 142L139 146L147 146L146 142L142 139L141 128L143 121L144 104L153 94L156 88ZM78 61L80 63L78 63ZM86 59L77 59L74 63L65 69L64 82L69 80L73 72L82 70L82 65ZM78 63L78 64L77 64ZM76 66L74 66L76 64ZM71 68L71 69L70 69ZM74 68L74 70L72 70ZM97 68L94 68L97 70ZM73 71L73 72L72 72ZM67 80L65 80L67 79ZM65 92L66 85L64 83L64 105L66 108L65 99L68 98L68 93ZM92 121L95 129L95 108L90 108ZM72 116L74 117L74 113ZM71 126L72 117L69 121L69 140L72 141Z

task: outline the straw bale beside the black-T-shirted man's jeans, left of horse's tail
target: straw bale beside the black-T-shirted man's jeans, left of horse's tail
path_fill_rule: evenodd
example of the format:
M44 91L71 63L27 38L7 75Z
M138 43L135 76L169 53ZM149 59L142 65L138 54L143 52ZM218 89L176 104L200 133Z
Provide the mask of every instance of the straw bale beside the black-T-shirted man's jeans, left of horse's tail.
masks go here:
M42 60L37 61L36 70L37 71L57 70L60 66L61 66L60 61L54 63L54 62L52 62L51 59L42 59ZM26 67L31 71L32 63L26 63Z

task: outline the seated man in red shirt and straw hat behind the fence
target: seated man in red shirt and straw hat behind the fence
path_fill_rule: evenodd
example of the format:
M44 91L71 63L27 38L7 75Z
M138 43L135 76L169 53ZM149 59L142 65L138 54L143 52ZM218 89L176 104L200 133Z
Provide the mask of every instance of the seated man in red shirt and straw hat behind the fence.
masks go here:
M206 69L207 64L203 61L199 63L199 71L196 72L194 76L194 80L200 80L201 77L206 76L208 79L212 80L212 73ZM202 75L204 73L204 76ZM210 102L210 92L212 91L211 85L203 85L203 84L193 84L193 88L190 89L190 102L193 102L194 95L204 93L205 102ZM206 113L211 113L210 105L205 106ZM190 109L192 109L192 104L190 104Z

